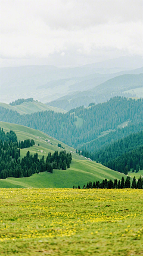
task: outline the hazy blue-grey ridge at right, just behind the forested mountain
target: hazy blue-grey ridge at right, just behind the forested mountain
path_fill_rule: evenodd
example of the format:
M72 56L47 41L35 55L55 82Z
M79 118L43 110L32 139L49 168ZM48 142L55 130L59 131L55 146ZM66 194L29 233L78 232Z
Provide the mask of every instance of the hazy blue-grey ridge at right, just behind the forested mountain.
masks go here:
M109 79L101 85L95 86L91 90L74 92L67 96L58 98L48 103L50 106L70 110L89 103L103 103L114 96L135 97L135 94L124 93L130 89L142 88L143 74L125 74ZM90 80L89 80L90 83ZM93 82L92 82L93 83Z

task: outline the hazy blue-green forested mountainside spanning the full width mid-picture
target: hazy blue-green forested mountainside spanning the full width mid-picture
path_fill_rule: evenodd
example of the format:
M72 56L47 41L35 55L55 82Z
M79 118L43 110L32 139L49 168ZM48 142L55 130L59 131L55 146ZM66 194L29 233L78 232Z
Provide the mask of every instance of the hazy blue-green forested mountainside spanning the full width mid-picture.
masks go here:
M21 116L2 107L0 110L1 121L39 129L69 146L91 152L132 132L142 131L143 127L141 99L115 97L107 103L88 109L80 107L66 114L46 111Z

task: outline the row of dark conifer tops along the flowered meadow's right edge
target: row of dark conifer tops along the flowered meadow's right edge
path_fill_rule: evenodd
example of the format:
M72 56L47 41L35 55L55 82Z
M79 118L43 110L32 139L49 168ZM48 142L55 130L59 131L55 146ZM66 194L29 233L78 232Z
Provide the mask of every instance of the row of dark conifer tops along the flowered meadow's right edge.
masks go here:
M114 182L113 180L107 180L107 179L104 179L102 180L102 182L100 182L99 180L97 182L88 182L87 185L83 186L83 188L107 188L107 189L113 189L113 188L138 188L138 189L142 189L143 188L143 178L140 176L138 180L136 180L135 176L133 177L133 180L132 180L132 185L131 185L131 182L130 182L130 177L127 176L126 177L126 180L124 179L124 177L122 177L122 180L119 180L117 181L117 179L114 179ZM80 186L78 187L75 187L73 186L73 188L80 188Z

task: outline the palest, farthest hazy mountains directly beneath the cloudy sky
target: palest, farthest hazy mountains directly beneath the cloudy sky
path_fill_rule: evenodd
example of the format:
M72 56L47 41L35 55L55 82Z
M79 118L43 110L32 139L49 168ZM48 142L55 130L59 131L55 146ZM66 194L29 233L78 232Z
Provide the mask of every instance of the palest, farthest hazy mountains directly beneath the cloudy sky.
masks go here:
M0 101L10 103L18 98L33 97L34 100L42 103L49 103L76 91L87 91L123 74L140 74L143 72L141 66L141 58L125 56L74 68L54 66L1 68ZM130 92L129 94L132 95ZM136 91L133 95L138 96ZM69 97L68 100L73 98Z

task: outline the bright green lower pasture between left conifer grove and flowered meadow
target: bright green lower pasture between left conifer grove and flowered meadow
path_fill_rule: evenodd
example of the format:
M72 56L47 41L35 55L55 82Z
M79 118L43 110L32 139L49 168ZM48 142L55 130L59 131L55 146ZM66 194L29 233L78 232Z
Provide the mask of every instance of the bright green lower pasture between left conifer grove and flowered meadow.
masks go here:
M73 188L103 179L122 179L124 174L110 170L96 162L73 159L67 170L44 171L30 177L0 179L0 188ZM126 178L126 176L125 176Z

